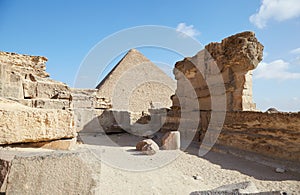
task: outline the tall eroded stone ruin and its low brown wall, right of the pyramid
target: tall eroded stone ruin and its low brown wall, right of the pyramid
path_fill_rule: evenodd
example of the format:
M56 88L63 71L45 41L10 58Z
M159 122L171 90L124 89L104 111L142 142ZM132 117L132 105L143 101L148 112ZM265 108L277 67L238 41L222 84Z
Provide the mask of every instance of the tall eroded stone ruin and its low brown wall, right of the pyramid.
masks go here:
M200 116L196 117L200 118L200 124L194 140L202 142L213 112L211 100L215 98L217 102L214 103L218 106L218 101L222 101L219 97L226 96L222 131L220 135L213 135L218 137L215 149L226 146L299 162L300 113L263 113L257 111L252 100L252 70L262 60L262 55L263 45L255 34L242 32L225 38L221 43L210 43L194 57L177 62L174 69L177 89L162 130L178 129L179 123L185 120L191 123L189 115L183 118L182 106L191 116L198 108L196 114ZM217 76L222 76L224 83L218 83ZM220 85L224 86L223 91ZM196 97L189 90L194 91ZM191 104L195 102L191 101L192 98L196 98L197 106ZM223 110L217 107L214 114L218 111ZM195 129L184 131L194 133Z

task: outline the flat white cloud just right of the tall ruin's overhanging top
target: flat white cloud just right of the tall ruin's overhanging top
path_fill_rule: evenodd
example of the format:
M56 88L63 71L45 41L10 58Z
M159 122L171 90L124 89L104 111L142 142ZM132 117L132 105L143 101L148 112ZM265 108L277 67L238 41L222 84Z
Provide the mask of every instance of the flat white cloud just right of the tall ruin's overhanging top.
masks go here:
M289 63L283 60L275 60L270 63L261 62L254 71L254 78L265 79L300 79L300 73L289 72Z

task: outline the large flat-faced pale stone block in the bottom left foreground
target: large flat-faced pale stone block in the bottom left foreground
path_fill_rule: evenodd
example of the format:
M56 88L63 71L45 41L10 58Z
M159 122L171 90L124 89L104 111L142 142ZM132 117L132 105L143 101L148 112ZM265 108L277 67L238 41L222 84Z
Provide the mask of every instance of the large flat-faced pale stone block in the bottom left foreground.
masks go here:
M7 163L9 167L1 167L7 175L0 181L0 192L6 194L99 193L96 174L99 174L101 167L88 150L1 151L0 164Z

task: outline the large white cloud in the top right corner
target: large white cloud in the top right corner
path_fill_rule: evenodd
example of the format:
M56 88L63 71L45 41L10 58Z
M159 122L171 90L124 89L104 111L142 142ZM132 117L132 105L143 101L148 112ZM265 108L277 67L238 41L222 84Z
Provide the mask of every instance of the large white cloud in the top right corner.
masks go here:
M280 22L299 16L300 0L263 0L258 12L249 20L258 28L264 28L270 19Z

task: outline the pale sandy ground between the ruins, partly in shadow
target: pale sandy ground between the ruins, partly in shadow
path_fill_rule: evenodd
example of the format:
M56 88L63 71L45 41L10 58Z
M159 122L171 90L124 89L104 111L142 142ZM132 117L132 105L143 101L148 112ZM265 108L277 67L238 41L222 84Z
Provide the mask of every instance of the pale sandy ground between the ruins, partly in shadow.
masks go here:
M101 151L96 156L102 155L99 194L190 194L245 181L253 182L259 191L300 194L300 173L277 173L274 167L219 152L199 157L194 144L186 151L147 156L135 151L140 138L126 134L110 136L115 146L105 144L103 136L83 139L102 143L95 150Z

